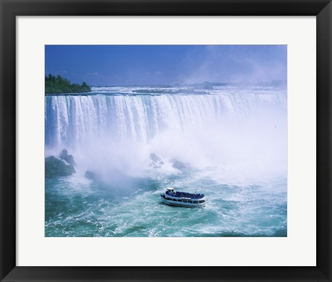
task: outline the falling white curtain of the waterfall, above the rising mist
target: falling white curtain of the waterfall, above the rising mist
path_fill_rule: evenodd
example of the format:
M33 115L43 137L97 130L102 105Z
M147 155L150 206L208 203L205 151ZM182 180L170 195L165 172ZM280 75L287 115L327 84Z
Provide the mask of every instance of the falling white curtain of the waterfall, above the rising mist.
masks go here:
M160 131L185 131L232 114L246 118L259 103L285 105L284 96L160 95L46 96L46 146L80 146L109 135L148 142Z

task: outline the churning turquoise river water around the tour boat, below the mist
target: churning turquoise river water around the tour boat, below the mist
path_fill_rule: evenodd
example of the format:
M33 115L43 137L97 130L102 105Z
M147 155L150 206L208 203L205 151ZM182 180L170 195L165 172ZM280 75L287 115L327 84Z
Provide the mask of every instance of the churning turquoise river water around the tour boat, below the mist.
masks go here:
M286 179L248 186L189 175L131 181L119 193L77 175L47 179L46 236L286 236ZM163 204L160 193L177 183L185 191L204 187L205 208Z

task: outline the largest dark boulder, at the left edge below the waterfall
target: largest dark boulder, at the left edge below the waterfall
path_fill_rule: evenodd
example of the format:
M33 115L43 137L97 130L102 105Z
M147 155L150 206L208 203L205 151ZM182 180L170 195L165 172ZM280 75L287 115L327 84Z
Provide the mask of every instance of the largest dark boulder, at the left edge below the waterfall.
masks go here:
M54 156L45 158L45 178L68 176L73 173L75 173L75 168L71 164L66 164Z

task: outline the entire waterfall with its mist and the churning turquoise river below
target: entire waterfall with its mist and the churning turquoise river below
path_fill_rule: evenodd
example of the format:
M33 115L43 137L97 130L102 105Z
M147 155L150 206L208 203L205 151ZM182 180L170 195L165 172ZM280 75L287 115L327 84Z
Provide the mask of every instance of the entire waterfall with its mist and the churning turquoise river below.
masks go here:
M45 236L287 236L286 89L46 95L46 157L64 149L75 173L45 179ZM207 204L167 206L166 188Z

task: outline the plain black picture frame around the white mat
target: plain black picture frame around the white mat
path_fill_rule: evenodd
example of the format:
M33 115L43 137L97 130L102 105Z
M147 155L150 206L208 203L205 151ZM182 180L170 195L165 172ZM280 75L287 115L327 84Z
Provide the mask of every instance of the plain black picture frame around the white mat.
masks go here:
M331 0L0 0L0 10L1 281L332 281ZM17 267L16 17L58 15L315 16L317 20L317 266Z

